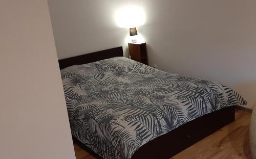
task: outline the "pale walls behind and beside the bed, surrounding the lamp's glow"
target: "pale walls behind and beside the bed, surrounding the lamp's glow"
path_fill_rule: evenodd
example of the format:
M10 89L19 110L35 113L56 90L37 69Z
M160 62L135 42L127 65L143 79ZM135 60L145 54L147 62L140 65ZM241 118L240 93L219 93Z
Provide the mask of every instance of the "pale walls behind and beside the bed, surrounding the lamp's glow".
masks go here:
M59 59L126 48L129 31L118 28L114 13L136 5L146 12L138 32L150 65L225 84L247 99L247 107L256 103L254 0L48 1Z

